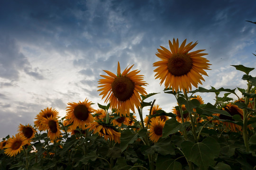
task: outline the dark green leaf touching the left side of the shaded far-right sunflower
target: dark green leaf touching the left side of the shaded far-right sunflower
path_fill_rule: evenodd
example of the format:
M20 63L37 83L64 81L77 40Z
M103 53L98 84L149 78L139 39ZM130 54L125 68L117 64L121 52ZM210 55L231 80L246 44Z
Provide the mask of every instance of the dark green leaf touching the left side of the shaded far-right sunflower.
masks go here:
M213 106L211 103L207 103L205 106L203 106L201 108L197 108L196 111L200 115L202 114L202 115L206 115L206 116L212 116L212 114L214 114L214 113L219 113L219 114L231 117L229 112L227 112L225 110L219 110L215 106Z

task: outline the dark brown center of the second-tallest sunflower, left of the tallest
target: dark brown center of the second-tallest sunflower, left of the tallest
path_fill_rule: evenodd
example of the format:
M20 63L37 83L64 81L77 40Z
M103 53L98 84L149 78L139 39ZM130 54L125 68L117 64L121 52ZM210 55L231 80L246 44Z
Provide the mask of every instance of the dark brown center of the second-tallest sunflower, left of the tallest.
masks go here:
M133 94L134 83L126 76L117 77L111 84L114 96L120 101L127 101Z

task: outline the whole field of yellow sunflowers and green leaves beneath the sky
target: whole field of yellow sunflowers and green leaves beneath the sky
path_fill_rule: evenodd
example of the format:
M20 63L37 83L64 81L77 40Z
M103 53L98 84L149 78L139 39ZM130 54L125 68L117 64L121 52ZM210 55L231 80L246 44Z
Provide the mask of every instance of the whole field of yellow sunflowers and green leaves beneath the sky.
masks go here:
M246 89L198 86L211 64L204 50L192 51L197 43L173 39L155 54L155 79L177 100L172 112L146 92L139 70L121 72L118 62L98 81L104 103L69 102L63 118L42 108L34 125L2 138L0 170L256 170L254 68L232 65ZM215 103L200 93L215 94Z

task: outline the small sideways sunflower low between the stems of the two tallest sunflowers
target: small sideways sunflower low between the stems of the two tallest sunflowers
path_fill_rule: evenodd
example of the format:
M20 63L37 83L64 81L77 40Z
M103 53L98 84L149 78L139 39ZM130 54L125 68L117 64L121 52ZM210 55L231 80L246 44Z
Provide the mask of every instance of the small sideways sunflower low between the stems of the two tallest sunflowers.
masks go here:
M149 139L156 143L163 136L163 128L165 121L160 119L152 119L149 128Z

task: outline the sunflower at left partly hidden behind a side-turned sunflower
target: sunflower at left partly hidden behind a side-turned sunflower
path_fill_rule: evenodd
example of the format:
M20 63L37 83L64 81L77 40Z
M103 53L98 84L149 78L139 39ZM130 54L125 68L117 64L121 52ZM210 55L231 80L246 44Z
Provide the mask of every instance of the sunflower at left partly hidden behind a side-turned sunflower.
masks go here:
M34 122L35 126L38 128L38 130L46 130L46 126L42 124L42 121L44 118L50 118L51 116L53 118L58 118L59 112L52 108L46 108L44 110L41 110L39 114L36 116L36 121Z

